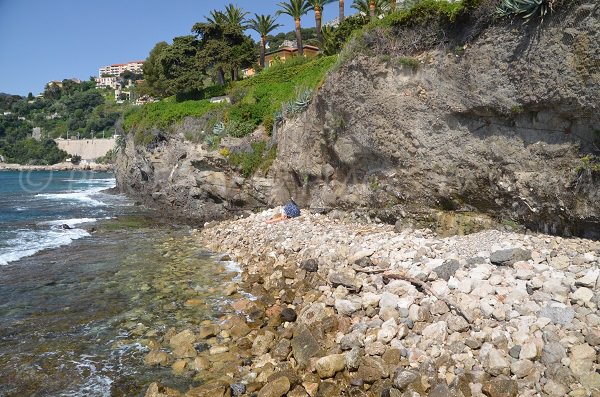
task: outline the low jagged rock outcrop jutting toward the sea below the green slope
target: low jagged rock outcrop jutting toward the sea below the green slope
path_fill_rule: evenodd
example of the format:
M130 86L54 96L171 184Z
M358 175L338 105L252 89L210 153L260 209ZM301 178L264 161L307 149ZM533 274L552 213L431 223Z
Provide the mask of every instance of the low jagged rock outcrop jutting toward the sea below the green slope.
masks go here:
M156 142L147 146L136 145L134 135L127 135L115 164L117 186L141 203L188 221L223 219L265 206L272 179L245 179L218 151L184 138L204 127L202 120L187 118L168 139L155 131Z

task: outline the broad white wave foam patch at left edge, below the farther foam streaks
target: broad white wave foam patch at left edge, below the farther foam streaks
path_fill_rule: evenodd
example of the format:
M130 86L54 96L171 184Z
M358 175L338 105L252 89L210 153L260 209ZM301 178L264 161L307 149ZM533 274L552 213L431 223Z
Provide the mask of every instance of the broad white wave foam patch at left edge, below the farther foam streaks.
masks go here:
M6 247L0 248L0 265L7 265L45 249L71 244L73 240L89 235L83 229L19 230L16 237L6 241Z

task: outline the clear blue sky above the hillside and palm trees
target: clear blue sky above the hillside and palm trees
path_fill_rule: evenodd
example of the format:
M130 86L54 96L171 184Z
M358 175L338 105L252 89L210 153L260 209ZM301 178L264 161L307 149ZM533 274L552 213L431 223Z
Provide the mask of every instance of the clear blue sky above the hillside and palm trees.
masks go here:
M252 14L275 14L279 1L266 0L0 0L0 92L34 95L46 83L89 79L102 66L144 60L160 41L191 34L213 9L233 3ZM346 1L346 15L354 13ZM323 12L327 22L338 3ZM294 29L281 15L278 32ZM303 27L314 27L311 12ZM255 40L256 33L248 30Z

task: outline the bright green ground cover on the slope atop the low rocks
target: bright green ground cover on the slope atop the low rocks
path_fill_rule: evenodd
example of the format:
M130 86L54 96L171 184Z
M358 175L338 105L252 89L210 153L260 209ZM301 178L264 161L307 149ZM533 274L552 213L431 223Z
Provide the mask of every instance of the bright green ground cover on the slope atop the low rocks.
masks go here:
M316 88L325 77L325 73L335 57L317 59L292 58L286 63L274 65L255 77L237 81L226 88L226 93L235 100L234 104L211 104L208 100L177 102L171 97L156 103L130 109L125 114L123 128L135 131L137 144L148 144L156 136L153 129L166 132L169 127L184 117L202 117L215 112L216 120L212 123L212 135L207 143L211 147L218 145L225 135L243 137L256 129L261 123L272 129L274 114L288 102L298 100L307 102L306 90ZM298 92L303 98L298 98ZM222 113L222 116L218 116ZM219 119L220 118L220 119ZM197 137L186 136L186 139L198 141Z

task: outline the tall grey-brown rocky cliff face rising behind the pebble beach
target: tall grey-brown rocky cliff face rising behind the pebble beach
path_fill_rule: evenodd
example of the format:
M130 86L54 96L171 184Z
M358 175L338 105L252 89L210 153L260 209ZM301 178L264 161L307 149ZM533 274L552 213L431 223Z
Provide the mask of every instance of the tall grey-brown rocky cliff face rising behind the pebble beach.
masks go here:
M152 153L127 145L119 186L202 219L291 194L388 221L473 211L599 238L600 172L582 160L600 148L599 27L600 7L582 4L540 30L493 26L459 51L422 52L416 68L390 39L280 128L267 178L243 180L172 138Z

